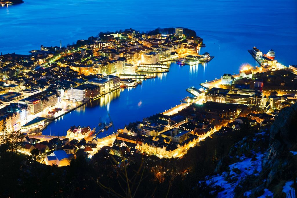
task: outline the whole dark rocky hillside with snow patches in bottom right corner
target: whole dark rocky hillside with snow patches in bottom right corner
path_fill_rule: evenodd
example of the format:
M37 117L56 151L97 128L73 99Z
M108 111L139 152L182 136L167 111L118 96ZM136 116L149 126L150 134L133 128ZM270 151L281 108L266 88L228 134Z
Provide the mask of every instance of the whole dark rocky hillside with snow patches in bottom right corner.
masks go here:
M297 187L297 103L286 107L272 126L245 137L219 161L208 183L218 197L295 197Z

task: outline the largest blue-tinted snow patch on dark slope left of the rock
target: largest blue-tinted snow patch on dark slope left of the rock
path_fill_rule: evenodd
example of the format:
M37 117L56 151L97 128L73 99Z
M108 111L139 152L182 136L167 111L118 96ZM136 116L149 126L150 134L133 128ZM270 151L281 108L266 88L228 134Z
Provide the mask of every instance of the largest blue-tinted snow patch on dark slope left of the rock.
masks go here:
M207 178L208 180L206 181L206 183L221 186L222 188L224 188L223 191L218 193L217 197L234 197L233 190L242 178L247 175L258 175L259 172L261 172L261 160L263 156L264 155L261 153L256 153L255 161L252 161L252 158L242 156L238 162L229 165L230 174L228 174L228 172L223 172L222 174L212 176L210 178ZM235 172L233 172L234 168L239 169L241 173L236 174ZM228 175L229 178L235 181L232 183L228 183L228 181L226 181ZM249 195L250 192L247 192L247 194Z

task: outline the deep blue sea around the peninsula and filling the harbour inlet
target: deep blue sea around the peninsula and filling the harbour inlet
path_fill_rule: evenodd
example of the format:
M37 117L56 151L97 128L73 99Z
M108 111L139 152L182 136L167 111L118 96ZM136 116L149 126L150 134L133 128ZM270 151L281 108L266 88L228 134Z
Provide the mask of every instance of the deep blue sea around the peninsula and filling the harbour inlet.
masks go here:
M199 83L223 73L238 72L245 63L256 65L247 52L253 46L264 53L273 48L279 62L297 64L296 13L295 0L26 0L20 5L0 7L0 52L27 54L41 44L55 46L62 40L62 45L67 45L100 31L130 27L140 31L177 26L194 29L206 43L202 52L215 56L206 66L181 68L173 63L162 77L116 93L120 96L110 97L110 102L100 99L81 107L43 133L49 133L50 128L52 133L66 131L74 124L94 127L100 116L107 120L107 111L117 129L175 106L188 95L185 89L189 86L199 87Z

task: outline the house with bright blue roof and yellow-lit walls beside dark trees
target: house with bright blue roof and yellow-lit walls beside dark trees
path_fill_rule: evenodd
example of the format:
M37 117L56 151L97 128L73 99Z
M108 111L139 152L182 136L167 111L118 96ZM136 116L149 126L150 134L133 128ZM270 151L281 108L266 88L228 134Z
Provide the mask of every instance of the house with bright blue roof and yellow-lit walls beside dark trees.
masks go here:
M46 165L57 165L57 166L68 166L70 164L70 160L74 158L73 154L67 154L63 150L54 151L49 156L45 157Z

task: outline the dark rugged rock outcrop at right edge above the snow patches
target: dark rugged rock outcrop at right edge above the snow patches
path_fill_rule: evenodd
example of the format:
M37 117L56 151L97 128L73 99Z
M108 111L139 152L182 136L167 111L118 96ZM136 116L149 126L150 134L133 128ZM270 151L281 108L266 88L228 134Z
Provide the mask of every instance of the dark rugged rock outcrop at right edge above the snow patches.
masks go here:
M288 153L297 143L297 104L286 107L277 115L270 129L270 146L262 161L268 172L266 187L282 175L290 163Z

